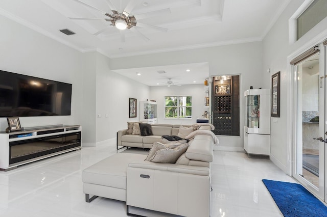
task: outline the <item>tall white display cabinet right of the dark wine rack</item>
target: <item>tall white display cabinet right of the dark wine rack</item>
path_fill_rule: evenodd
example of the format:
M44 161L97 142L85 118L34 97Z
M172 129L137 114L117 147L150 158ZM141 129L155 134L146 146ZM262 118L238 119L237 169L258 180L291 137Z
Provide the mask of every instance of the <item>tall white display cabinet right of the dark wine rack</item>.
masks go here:
M244 96L244 150L248 154L270 155L270 90L250 89Z

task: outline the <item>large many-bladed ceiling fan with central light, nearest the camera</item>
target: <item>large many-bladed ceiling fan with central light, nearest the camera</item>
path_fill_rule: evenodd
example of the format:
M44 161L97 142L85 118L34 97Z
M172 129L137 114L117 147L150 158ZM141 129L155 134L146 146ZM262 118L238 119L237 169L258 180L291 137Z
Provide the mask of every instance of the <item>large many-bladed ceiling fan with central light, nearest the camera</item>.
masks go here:
M92 8L94 10L100 11L102 14L104 14L106 17L105 18L85 18L85 17L68 17L69 19L72 20L105 20L110 22L109 26L115 26L118 30L120 30L121 33L121 39L123 42L125 42L125 35L123 30L131 30L132 32L136 33L138 36L142 37L144 40L149 41L150 39L143 35L141 32L139 32L136 28L141 27L141 28L151 28L155 29L158 31L162 32L167 32L168 29L166 28L161 28L156 25L150 25L146 23L139 22L138 20L153 17L153 16L159 16L159 15L165 15L169 14L171 11L169 8L166 9L161 9L157 11L152 11L148 13L143 13L143 14L134 14L131 15L132 10L134 7L137 5L139 1L135 0L130 0L129 3L127 4L126 8L120 13L118 10L114 7L112 2L110 0L105 0L107 5L109 6L111 12L105 12L103 10L100 10L94 6L88 5L80 0L74 0L75 2L78 2L88 8ZM99 35L106 31L109 26L106 26L106 28L96 32L94 35Z

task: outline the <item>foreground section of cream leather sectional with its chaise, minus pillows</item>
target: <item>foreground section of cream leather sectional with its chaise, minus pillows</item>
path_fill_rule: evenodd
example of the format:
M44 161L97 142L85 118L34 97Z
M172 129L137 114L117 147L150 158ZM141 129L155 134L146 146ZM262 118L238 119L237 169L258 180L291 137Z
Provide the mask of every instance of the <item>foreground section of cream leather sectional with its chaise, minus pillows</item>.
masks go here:
M86 201L97 196L126 201L127 215L131 216L135 215L129 213L129 206L182 216L209 216L211 162L213 146L218 143L210 129L202 126L192 132L187 150L175 163L117 153L86 168L82 172Z

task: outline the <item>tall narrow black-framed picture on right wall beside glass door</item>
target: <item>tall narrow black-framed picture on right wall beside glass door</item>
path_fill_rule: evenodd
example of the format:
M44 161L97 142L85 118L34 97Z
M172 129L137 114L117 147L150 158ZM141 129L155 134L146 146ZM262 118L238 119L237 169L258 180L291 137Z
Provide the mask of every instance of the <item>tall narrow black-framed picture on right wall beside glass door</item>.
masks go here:
M277 72L271 76L271 117L279 118L279 96L280 96L280 80L281 72Z

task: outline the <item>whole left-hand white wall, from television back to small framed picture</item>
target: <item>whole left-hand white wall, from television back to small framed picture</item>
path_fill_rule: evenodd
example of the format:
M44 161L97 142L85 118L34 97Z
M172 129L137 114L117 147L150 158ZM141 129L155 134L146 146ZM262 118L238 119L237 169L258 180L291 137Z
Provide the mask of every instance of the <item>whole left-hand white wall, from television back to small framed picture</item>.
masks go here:
M20 117L22 127L81 124L82 145L95 146L139 120L129 118L128 100L149 98L149 87L110 71L109 58L79 52L4 16L0 25L0 70L73 84L71 116ZM0 118L0 131L7 127Z

